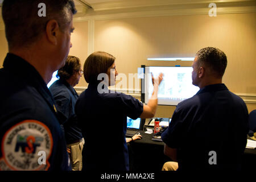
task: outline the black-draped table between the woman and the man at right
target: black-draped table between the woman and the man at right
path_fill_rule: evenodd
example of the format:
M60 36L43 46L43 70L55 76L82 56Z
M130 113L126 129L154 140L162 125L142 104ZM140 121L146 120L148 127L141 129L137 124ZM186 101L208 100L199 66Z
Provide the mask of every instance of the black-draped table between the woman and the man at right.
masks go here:
M165 162L171 161L164 155L164 143L152 141L153 134L141 131L142 139L128 143L131 171L161 171ZM256 164L256 149L245 148L242 169L251 170Z

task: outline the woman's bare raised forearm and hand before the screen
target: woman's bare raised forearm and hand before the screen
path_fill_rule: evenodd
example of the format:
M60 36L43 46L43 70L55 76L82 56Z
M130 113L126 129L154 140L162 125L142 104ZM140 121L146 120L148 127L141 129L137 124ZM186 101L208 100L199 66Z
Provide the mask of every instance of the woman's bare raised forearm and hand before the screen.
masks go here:
M152 73L151 73L152 74ZM156 107L158 105L158 87L163 80L163 73L160 73L158 78L152 76L152 82L154 85L154 91L147 105L143 105L143 112L140 118L152 118L155 115Z

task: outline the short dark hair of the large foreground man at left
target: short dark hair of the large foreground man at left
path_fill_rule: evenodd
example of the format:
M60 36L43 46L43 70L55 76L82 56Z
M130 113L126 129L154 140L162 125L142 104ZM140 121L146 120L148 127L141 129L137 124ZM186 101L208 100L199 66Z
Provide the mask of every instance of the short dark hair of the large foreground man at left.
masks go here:
M39 3L46 5L46 17L39 17ZM61 31L76 14L73 0L5 0L2 17L9 48L30 46L45 31L49 20L55 19Z

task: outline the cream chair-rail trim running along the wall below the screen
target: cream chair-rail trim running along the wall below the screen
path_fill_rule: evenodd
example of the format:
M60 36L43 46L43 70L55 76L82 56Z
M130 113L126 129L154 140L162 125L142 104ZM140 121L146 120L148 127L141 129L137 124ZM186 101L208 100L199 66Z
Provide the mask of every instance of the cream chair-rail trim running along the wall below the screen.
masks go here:
M78 94L82 93L85 89L87 89L87 86L75 86L75 90ZM115 90L117 92L129 94L141 100L141 89L115 89ZM234 93L234 94L241 97L246 104L256 104L256 94L253 94L253 93Z

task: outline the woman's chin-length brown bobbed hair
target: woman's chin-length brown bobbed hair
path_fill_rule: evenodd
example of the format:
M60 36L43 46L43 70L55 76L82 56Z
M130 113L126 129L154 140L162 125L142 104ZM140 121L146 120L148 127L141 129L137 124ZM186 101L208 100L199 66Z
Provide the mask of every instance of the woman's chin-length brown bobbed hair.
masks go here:
M84 78L85 81L96 84L100 82L97 80L100 73L108 72L108 69L114 64L115 57L107 52L94 52L85 60L84 64Z

